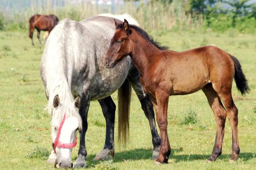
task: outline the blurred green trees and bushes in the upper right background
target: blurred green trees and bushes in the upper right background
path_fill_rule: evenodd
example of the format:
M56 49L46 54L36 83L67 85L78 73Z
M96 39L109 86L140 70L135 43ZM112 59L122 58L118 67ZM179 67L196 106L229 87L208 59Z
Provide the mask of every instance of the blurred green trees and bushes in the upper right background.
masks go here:
M166 5L175 0L150 0ZM194 21L203 17L205 27L214 31L236 28L254 33L256 28L256 0L180 0L187 16Z

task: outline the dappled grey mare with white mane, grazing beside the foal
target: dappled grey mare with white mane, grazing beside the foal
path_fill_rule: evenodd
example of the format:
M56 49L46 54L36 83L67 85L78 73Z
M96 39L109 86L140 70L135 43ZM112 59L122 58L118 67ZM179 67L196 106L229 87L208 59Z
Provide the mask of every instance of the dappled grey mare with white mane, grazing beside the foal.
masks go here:
M121 87L123 91L129 91L127 87L132 86L136 92L151 129L154 147L152 159L158 156L160 137L157 134L154 110L148 94L140 83L137 68L130 57L124 58L112 69L105 67L103 57L115 30L114 19L110 17L97 16L80 22L65 19L58 23L48 37L40 71L46 89L48 111L52 115L52 141L55 141L64 114L67 119L61 130L60 141L72 143L76 139L77 129L80 134L79 152L74 164L71 160L72 148L56 147L56 153L52 150L48 159L49 162L56 160L55 165L60 167L86 165L85 133L91 100L99 101L106 120L105 144L95 159L113 157L116 105L110 95L121 86L126 87ZM129 83L131 86L128 85ZM77 94L78 97L74 100L72 94Z

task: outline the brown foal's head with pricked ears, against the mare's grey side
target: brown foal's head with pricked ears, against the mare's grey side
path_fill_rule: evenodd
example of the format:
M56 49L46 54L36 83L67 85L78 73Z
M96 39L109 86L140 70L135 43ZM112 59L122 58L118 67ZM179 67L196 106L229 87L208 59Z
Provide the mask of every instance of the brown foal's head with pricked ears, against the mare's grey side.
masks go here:
M123 24L115 21L116 32L111 40L110 47L105 55L105 64L107 68L113 68L119 60L131 54L132 44L130 39L131 29L127 20Z

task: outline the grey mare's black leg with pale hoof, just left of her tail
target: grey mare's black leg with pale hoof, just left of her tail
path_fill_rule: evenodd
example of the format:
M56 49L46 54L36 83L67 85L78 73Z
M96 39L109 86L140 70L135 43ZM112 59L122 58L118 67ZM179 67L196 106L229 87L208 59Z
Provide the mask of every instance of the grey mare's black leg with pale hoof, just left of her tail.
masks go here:
M97 153L96 157L94 158L95 161L112 159L115 154L114 125L116 105L113 102L111 96L108 96L105 99L101 99L98 101L106 120L106 139L103 150Z

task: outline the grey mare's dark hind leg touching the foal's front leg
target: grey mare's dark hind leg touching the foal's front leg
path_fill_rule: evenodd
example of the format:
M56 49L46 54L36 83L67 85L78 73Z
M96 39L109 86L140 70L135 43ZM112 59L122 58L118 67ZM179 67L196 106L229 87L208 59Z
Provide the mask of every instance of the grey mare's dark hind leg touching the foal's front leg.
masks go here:
M139 100L141 107L145 113L145 116L148 119L150 130L151 130L151 135L152 135L152 144L154 147L153 154L152 154L152 159L157 159L159 155L159 149L160 149L160 144L161 144L161 139L157 133L157 127L156 127L156 122L154 119L154 109L153 105L151 103L151 100L149 98L149 95L145 93L141 82L140 82L140 74L137 71L136 68L132 69L129 74L127 79L132 85L132 88L136 92Z

